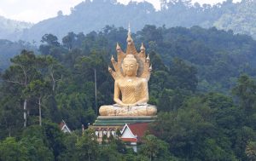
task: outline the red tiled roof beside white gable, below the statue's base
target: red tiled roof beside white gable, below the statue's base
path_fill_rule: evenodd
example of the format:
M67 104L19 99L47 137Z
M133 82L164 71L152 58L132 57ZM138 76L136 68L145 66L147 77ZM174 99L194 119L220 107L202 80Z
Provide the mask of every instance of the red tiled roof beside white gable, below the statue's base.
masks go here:
M148 130L148 123L138 123L138 124L127 124L131 129L133 135L137 135L138 138L143 137L145 132Z

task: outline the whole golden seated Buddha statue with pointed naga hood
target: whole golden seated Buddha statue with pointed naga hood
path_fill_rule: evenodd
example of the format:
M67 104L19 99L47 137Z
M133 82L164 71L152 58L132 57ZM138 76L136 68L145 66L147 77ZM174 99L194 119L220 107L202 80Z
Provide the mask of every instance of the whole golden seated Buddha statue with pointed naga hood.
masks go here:
M114 71L108 71L114 78L114 105L101 106L101 116L154 116L155 106L148 105L148 80L152 67L149 57L146 58L145 48L141 47L138 54L131 38L129 29L126 54L117 43L118 62L112 56Z

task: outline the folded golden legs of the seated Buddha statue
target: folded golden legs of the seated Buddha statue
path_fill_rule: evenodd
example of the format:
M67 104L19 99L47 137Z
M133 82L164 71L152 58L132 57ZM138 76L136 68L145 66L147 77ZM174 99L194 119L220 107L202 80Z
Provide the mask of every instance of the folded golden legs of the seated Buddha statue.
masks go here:
M141 106L101 106L101 116L154 116L156 115L157 109L152 105L141 105Z

